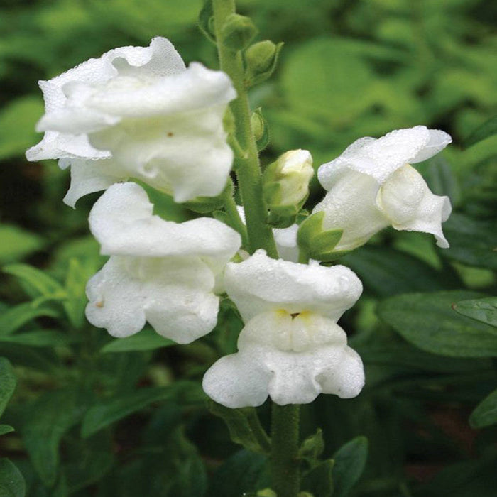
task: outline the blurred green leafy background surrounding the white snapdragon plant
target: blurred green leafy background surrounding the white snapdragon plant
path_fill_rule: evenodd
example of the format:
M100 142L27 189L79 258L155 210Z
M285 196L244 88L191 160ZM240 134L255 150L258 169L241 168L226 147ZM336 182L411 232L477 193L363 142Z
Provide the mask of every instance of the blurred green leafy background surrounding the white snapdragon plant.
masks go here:
M496 305L481 299L496 295L497 141L464 143L495 112L497 6L237 5L258 39L285 42L275 75L251 91L271 133L264 163L307 148L319 166L356 138L416 124L454 138L420 165L432 191L452 200L444 224L451 248L386 230L342 259L365 285L342 326L364 359L367 385L359 398L322 395L302 409L302 438L321 427L324 441L324 461L311 464L304 489L315 497L494 496ZM217 329L188 346L149 329L114 341L89 326L84 285L104 261L87 229L97 195L65 207L67 171L23 157L40 139L38 80L116 46L148 45L154 35L170 38L187 62L216 67L214 45L196 26L201 7L2 3L0 496L234 497L269 485L266 456L230 441L200 388L209 364L235 349L236 312L224 302ZM310 203L322 195L315 182ZM170 199L154 201L168 219L193 215ZM267 427L268 405L259 411ZM328 483L318 486L318 477Z

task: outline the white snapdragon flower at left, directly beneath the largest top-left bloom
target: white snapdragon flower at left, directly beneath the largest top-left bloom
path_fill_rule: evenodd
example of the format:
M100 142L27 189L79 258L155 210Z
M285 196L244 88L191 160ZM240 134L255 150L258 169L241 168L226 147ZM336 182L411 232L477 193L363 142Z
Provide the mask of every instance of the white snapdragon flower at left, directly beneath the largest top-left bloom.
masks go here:
M112 185L94 204L90 229L111 257L87 284L86 315L114 337L137 333L148 321L186 344L216 325L216 278L241 239L216 219L178 224L152 212L135 183Z

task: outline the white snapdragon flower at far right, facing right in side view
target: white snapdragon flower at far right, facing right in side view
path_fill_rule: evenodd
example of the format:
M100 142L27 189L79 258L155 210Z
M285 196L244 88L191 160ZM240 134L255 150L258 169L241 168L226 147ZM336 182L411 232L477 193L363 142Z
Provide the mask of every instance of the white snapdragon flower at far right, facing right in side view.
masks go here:
M386 226L435 235L449 246L442 222L452 210L449 197L434 195L410 164L432 157L451 143L444 131L415 126L381 138L360 138L342 155L323 164L317 178L324 200L312 211L324 212L323 229L343 229L335 247L352 250Z

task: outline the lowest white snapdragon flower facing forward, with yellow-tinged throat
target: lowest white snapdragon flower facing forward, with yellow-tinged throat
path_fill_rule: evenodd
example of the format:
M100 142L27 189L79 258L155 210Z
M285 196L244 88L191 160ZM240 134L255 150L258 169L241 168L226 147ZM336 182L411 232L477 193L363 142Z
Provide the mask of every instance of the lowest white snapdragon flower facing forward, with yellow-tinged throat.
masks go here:
M259 250L229 263L226 291L246 323L239 351L217 361L204 391L229 408L310 403L320 393L355 397L364 386L359 355L337 320L362 292L344 266L275 260Z

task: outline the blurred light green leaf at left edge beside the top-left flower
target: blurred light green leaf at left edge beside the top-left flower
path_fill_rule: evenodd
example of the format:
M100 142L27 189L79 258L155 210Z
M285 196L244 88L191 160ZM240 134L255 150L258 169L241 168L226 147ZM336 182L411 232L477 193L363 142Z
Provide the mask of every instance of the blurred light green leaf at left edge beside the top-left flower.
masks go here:
M0 160L21 156L40 140L35 124L43 114L40 97L21 97L7 104L0 113Z

